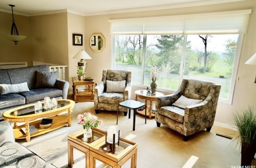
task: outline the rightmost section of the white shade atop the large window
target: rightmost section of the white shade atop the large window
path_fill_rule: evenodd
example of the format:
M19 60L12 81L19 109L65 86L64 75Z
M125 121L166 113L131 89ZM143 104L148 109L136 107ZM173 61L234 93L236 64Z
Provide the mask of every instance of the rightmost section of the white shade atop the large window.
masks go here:
M245 34L251 10L186 17L185 34Z

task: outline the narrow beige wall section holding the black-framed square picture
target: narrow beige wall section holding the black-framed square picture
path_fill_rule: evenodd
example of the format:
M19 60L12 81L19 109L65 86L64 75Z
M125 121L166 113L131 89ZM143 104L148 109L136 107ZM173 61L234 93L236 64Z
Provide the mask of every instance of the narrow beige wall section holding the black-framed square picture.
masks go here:
M84 33L85 33L85 24L84 24L84 16L67 13L67 27L68 27L68 69L69 69L69 83L70 83L70 91L72 91L72 79L71 77L77 76L76 74L76 66L78 59L73 59L73 56L76 55L81 49L84 49L85 44L88 44L85 41ZM83 46L73 46L73 34L82 34L83 35ZM86 51L87 52L87 51Z

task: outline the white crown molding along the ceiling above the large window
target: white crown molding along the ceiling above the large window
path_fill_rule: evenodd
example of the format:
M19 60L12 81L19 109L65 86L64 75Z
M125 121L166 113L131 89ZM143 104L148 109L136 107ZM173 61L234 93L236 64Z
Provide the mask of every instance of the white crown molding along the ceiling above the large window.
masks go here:
M180 8L180 7L194 7L194 6L222 4L222 3L237 2L237 1L247 1L247 0L212 0L212 1L205 0L205 1L200 1L200 2L189 2L189 3L172 4L172 5L161 5L161 6L154 6L154 7L139 7L139 8L132 8L132 9L111 10L111 11L104 11L104 12L92 12L92 13L85 13L84 16L116 14L116 13L129 13L129 12L141 12L141 11L149 11L149 10L163 10L163 9L173 9L173 8Z

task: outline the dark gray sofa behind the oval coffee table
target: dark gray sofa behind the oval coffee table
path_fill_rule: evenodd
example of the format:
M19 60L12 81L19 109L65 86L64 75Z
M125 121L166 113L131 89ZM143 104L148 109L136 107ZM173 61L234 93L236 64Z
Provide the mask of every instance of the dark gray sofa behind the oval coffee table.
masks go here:
M48 65L22 68L0 69L0 84L18 84L27 82L30 91L0 95L0 119L2 114L11 108L32 104L44 100L45 97L66 99L69 83L56 79L54 87L38 87L37 71L50 72ZM41 79L42 80L42 79ZM44 79L43 79L44 80ZM37 84L37 87L36 87ZM39 83L40 84L40 83Z

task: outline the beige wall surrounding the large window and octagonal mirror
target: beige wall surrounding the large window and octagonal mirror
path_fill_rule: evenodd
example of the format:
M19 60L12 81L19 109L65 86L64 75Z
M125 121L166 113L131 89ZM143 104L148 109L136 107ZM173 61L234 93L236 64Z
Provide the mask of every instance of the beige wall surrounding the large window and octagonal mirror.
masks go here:
M153 17L153 16L168 16L168 15L183 15L183 14L195 14L195 13L207 13L207 12L221 12L231 10L244 10L252 9L251 18L248 25L248 33L243 41L243 47L241 57L239 61L239 68L237 77L239 81L236 82L233 104L223 104L219 102L217 107L217 114L215 121L224 124L232 124L232 113L235 110L245 108L248 104L256 105L256 83L254 83L256 66L246 65L244 62L256 52L256 1L248 0L241 2L232 2L225 4L215 4L198 7L186 7L167 10L155 10L145 12L133 12L133 13L121 13L121 14L109 14L99 16L86 16L85 17L85 40L89 41L90 36L94 32L101 32L106 38L106 48L101 53L92 52L87 43L85 45L86 51L92 57L89 60L89 66L87 69L88 75L92 76L96 82L100 82L102 69L111 68L111 35L110 24L108 19L124 19L124 18L136 18L136 17ZM160 82L160 81L158 81ZM134 87L133 91L141 89L140 87ZM169 94L169 93L164 93ZM132 98L134 95L132 94Z

